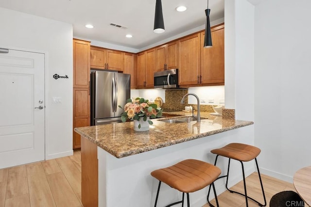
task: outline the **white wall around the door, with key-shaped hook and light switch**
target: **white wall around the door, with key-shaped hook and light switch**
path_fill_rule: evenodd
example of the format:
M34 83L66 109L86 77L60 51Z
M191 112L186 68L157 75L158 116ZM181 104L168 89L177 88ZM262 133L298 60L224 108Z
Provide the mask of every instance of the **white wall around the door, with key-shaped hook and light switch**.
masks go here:
M45 53L46 159L72 154L72 26L0 8L0 48ZM54 74L69 79L55 80ZM62 103L52 104L52 96Z

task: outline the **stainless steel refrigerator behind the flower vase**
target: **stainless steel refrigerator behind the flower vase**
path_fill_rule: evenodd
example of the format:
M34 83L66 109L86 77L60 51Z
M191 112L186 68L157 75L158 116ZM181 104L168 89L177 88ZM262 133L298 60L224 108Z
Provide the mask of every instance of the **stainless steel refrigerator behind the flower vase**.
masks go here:
M92 71L90 82L91 126L121 122L121 113L130 98L129 74Z

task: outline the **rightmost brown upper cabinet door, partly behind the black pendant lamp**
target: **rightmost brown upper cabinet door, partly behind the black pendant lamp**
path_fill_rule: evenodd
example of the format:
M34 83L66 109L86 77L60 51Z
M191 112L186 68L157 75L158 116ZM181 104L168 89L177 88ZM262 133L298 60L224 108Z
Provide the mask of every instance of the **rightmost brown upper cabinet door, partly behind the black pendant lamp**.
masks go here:
M211 29L212 48L203 48L205 32L201 32L201 84L225 84L225 25Z

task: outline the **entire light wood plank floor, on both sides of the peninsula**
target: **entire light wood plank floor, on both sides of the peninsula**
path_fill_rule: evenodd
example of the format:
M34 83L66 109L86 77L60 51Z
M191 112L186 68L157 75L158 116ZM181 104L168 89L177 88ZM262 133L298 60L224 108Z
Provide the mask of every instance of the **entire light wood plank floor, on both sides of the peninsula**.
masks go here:
M292 183L261 175L267 199L280 191L295 191ZM225 178L224 178L225 179ZM246 178L247 193L261 202L258 174ZM242 181L232 187L243 192ZM245 198L225 191L218 196L221 207L245 207ZM211 201L216 205L215 199ZM249 207L258 207L252 201ZM81 153L73 156L0 169L0 207L82 207ZM205 205L204 207L208 207Z

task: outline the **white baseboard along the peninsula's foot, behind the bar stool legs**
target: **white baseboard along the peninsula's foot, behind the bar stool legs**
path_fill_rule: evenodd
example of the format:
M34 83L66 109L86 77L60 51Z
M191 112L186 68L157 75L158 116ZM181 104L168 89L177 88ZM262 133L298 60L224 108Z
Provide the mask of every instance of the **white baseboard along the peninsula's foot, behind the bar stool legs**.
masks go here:
M242 169L241 169L242 171ZM248 175L251 175L252 173L254 173L254 168L252 169L248 169L248 170L245 170L244 173L245 173L245 177L247 177ZM223 192L226 191L225 189L225 179L226 178L221 178L220 180L217 180L215 182L215 188L216 188L216 193L217 195L220 195L222 194ZM231 188L232 186L236 185L238 182L242 181L243 178L242 178L242 172L241 172L241 175L238 175L238 176L232 176L230 174L229 176L229 180L228 180L228 188ZM222 182L222 184L220 184ZM258 185L260 185L259 181L258 181ZM246 186L247 186L247 183L246 183ZM209 186L206 188L206 191L208 192L208 188ZM195 192L194 192L195 193ZM243 192L242 192L243 193ZM213 190L211 189L210 190L210 193L209 193L209 200L213 200L215 198L214 196L214 192ZM202 197L200 198L197 202L195 202L193 205L191 205L192 207L202 207L203 205L205 205L207 203L207 193L206 193L206 196L205 197Z

